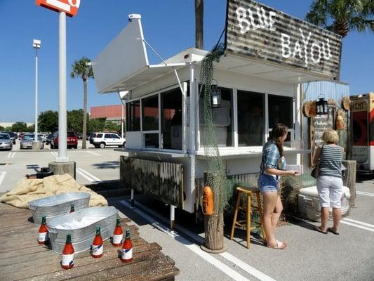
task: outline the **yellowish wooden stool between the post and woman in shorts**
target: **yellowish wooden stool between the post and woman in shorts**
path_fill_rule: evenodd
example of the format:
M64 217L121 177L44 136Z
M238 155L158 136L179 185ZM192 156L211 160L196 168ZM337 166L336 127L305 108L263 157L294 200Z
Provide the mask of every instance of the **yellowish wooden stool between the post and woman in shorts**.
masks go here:
M260 221L261 221L260 226L261 226L261 231L262 231L262 238L264 240L266 240L265 231L264 231L264 228L262 226L262 223L264 221L264 216L263 216L263 213L262 213L262 207L261 207L261 201L260 201L260 190L258 190L257 186L253 186L253 187L250 187L250 188L236 188L236 190L238 191L238 199L236 200L236 207L235 207L235 213L234 213L234 221L232 222L230 240L232 240L232 237L234 236L235 227L236 226L240 226L241 228L243 228L243 223L246 223L247 248L249 248L249 246L251 244L251 237L250 237L251 236L251 230L254 229L254 228L256 228L256 227L252 227L251 228L251 211L252 211L251 209L252 208L258 209L258 214L260 214ZM247 207L246 207L246 209L240 206L241 195L243 193L247 195ZM251 202L252 202L252 195L256 195L257 206L258 207L253 207L252 204L251 204ZM247 212L247 219L246 220L236 221L239 209Z

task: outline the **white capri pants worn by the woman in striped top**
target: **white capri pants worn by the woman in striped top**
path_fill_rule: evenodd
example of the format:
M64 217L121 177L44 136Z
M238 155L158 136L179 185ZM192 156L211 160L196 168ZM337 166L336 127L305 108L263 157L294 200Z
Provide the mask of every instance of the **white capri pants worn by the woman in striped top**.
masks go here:
M335 176L319 176L317 178L319 206L321 208L341 208L343 181Z

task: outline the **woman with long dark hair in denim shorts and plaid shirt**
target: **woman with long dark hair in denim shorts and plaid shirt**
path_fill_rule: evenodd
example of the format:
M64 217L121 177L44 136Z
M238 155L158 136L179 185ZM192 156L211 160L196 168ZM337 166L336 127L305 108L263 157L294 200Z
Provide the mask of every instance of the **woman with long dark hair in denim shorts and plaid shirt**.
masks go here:
M295 175L297 171L285 171L286 159L283 156L283 143L287 138L288 127L276 124L272 129L267 143L262 148L262 161L258 188L264 198L263 227L267 238L267 247L286 249L286 242L280 242L274 237L276 224L281 216L283 205L279 197L279 179L283 175Z

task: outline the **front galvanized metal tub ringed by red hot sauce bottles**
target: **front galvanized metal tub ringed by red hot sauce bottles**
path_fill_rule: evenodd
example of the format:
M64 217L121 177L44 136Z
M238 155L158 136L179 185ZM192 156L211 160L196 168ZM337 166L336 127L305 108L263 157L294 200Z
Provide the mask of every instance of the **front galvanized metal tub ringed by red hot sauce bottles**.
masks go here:
M96 227L100 226L102 240L107 240L113 234L117 217L114 207L91 207L47 220L52 251L62 253L67 233L72 235L76 253L90 249Z

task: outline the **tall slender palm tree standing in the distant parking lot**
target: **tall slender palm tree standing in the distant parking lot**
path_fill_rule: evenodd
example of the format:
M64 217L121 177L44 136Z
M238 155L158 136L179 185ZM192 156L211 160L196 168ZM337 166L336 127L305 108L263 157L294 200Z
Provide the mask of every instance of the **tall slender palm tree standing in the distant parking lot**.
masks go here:
M87 135L87 79L94 78L91 60L82 57L80 60L74 61L72 64L72 72L70 77L80 77L83 80L84 98L83 98L83 132L82 132L82 148L86 148L86 135Z

